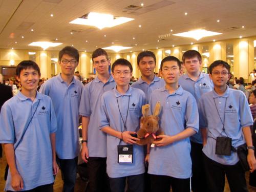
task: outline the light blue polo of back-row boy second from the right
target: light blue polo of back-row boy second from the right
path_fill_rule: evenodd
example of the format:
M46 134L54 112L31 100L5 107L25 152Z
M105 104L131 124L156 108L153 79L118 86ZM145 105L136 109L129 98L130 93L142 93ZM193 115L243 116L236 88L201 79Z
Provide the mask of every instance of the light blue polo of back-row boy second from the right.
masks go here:
M207 93L214 89L214 84L208 74L200 72L197 81L194 81L184 74L179 79L179 85L189 93L191 93L197 100L197 104L204 93ZM203 143L201 132L190 137L190 140L195 143Z

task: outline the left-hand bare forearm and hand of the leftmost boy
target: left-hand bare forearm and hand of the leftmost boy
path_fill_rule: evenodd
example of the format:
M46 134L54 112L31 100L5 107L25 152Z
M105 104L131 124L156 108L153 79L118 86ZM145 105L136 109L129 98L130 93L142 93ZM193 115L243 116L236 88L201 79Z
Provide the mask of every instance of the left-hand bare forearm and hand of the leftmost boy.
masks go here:
M22 190L24 183L16 168L13 143L4 143L4 151L11 173L11 186L14 190Z

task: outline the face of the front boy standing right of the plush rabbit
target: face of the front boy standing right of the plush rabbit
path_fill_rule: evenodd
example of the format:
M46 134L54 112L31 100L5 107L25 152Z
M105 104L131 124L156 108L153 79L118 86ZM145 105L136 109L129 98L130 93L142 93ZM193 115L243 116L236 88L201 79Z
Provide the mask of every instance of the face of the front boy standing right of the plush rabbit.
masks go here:
M165 61L162 66L162 75L166 84L178 83L181 76L181 70L178 66L177 61Z

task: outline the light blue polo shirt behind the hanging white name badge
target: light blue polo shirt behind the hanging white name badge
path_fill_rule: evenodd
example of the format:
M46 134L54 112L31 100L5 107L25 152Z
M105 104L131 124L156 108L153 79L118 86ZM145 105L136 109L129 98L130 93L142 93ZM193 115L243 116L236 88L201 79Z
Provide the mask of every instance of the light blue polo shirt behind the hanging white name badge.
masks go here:
M100 129L105 126L110 126L116 131L124 131L124 123L118 110L117 100L124 121L126 119L129 104L129 111L126 120L127 131L137 132L140 126L140 117L142 116L141 106L145 104L145 94L143 91L132 87L129 87L129 90L127 90L123 95L121 95L116 88L107 91L102 95L99 107ZM118 164L117 145L119 142L119 138L109 134L106 135L106 172L109 177L119 178L143 174L145 172L143 146L136 144L133 145L134 157L132 164ZM123 141L121 141L120 144L126 145Z

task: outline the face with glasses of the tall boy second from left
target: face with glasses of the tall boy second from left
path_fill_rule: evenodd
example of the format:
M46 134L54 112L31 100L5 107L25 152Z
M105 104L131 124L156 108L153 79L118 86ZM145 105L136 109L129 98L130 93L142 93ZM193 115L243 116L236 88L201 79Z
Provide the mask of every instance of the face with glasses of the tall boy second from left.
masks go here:
M78 62L76 58L69 56L68 54L63 54L59 62L61 73L66 76L73 76L77 65Z

